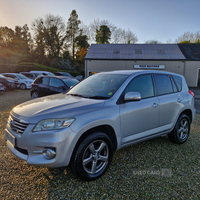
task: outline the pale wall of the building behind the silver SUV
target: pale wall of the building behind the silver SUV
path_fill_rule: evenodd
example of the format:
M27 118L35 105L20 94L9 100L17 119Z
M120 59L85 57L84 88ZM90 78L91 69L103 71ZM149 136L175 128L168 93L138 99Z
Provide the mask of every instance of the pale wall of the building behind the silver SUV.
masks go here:
M197 86L199 61L125 61L125 60L86 60L85 73L113 70L133 70L134 65L165 65L164 71L174 72L185 76L190 87Z

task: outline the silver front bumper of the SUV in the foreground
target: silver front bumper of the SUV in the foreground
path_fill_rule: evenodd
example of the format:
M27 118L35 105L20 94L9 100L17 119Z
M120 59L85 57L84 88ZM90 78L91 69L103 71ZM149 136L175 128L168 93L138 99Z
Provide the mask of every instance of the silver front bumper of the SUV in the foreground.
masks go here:
M34 125L29 125L23 134L18 134L7 124L5 129L6 138L9 134L15 139L14 145L13 142L7 139L7 146L10 151L30 165L41 167L67 166L74 149L73 139L75 133L70 128L32 132L33 127ZM45 158L43 151L47 148L56 152L54 158Z

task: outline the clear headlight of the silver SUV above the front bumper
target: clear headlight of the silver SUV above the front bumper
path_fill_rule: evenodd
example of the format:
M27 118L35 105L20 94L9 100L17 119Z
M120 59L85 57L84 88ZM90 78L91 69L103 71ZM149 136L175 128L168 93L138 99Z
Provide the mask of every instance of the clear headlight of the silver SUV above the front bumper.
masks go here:
M37 125L33 129L33 132L66 128L69 127L74 121L74 118L45 119L37 123Z

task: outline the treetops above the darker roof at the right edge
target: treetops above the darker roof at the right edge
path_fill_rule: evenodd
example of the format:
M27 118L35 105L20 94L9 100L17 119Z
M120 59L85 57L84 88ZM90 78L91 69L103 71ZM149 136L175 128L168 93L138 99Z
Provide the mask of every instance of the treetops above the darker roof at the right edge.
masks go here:
M191 32L184 32L183 35L179 36L175 42L180 43L184 41L190 41L190 43L198 43L198 40L200 39L200 32L191 33Z

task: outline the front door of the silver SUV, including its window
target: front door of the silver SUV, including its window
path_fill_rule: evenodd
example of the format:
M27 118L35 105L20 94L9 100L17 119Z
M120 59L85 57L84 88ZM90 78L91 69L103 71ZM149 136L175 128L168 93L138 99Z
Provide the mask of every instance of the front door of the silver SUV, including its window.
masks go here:
M159 126L159 100L150 74L135 77L124 91L139 92L140 101L120 104L122 144L155 133Z

